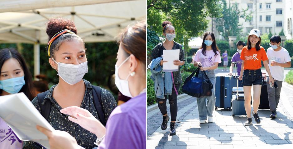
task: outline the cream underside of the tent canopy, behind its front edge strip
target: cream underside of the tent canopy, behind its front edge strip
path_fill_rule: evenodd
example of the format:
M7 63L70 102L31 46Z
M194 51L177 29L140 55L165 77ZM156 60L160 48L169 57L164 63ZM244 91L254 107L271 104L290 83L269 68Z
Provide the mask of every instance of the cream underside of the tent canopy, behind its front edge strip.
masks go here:
M46 21L52 17L73 20L85 42L114 41L121 29L146 18L145 5L145 1L138 0L3 12L0 13L0 43L47 44Z

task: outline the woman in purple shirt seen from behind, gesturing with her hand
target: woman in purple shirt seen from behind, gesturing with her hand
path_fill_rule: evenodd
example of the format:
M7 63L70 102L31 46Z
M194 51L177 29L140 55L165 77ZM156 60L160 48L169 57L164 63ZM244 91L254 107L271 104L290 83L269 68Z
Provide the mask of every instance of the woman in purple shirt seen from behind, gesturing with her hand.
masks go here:
M104 127L91 113L77 106L60 110L73 115L68 119L96 134L98 149L146 148L146 20L129 26L119 37L115 65L115 84L119 91L132 97L117 106ZM50 148L80 149L67 132L53 132L37 126L47 135ZM94 142L93 142L94 143Z

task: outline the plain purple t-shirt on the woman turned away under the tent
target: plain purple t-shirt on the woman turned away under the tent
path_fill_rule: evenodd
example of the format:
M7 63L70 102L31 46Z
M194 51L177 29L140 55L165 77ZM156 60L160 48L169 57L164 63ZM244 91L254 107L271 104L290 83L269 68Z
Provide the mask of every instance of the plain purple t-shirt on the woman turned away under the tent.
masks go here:
M146 148L146 93L117 106L106 124L98 149Z

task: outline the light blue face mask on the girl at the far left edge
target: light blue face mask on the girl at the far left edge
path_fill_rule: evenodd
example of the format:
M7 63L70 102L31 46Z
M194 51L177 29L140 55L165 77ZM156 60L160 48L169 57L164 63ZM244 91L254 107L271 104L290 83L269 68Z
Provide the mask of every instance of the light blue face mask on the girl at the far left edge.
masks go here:
M22 86L26 84L24 81L24 75L22 77L16 77L0 81L0 89L3 89L7 93L18 93Z

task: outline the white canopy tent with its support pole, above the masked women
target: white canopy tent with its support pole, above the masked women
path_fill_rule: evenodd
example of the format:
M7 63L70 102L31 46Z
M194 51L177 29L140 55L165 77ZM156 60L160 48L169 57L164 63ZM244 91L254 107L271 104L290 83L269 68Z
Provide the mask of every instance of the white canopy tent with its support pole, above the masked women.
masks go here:
M48 42L48 19L74 20L77 34L87 43L114 41L121 29L146 19L146 1L0 0L0 12L0 43L34 44L34 75L38 75L40 44Z

